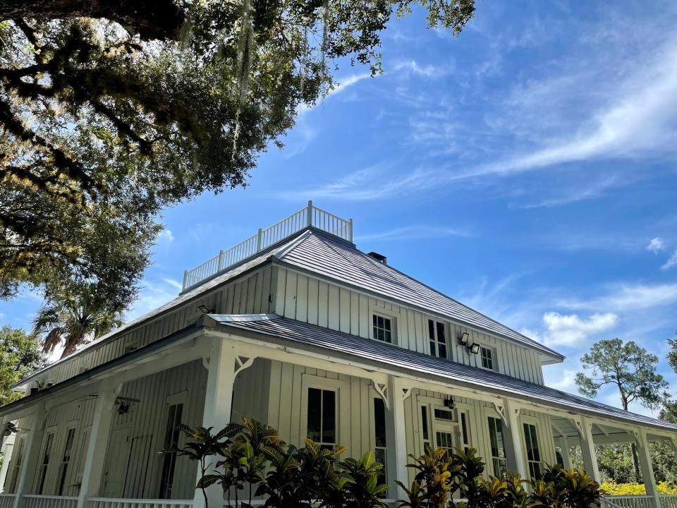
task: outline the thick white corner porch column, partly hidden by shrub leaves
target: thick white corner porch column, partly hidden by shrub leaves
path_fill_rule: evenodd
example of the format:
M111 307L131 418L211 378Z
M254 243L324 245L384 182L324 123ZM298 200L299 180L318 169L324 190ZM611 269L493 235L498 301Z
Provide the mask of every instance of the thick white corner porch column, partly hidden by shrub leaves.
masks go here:
M231 410L233 406L233 383L235 382L235 351L232 347L226 347L224 340L212 339L212 347L207 364L207 390L205 392L205 411L202 414L202 426L213 427L218 432L231 423ZM207 474L212 474L216 468L219 456L211 456L207 459ZM200 479L200 471L197 471ZM197 481L195 482L197 483ZM221 508L224 504L224 490L221 485L207 487L207 501L209 508ZM195 489L193 508L205 508L205 497L202 490Z

